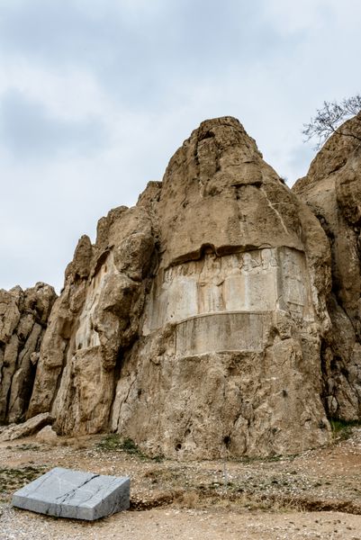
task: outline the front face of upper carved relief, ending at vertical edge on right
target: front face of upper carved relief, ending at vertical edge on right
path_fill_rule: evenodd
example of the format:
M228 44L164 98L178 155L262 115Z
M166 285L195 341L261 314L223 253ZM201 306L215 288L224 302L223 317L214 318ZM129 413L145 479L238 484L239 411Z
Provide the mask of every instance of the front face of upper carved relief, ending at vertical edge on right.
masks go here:
M258 249L172 266L160 273L146 309L143 333L196 315L269 311L277 302L275 249Z

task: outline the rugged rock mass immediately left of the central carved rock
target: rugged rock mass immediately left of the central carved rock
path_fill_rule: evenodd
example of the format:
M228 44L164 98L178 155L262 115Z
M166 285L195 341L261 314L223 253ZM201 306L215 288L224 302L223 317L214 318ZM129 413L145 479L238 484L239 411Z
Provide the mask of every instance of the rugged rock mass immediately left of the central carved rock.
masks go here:
M80 238L41 343L28 417L51 410L65 433L108 427L123 351L139 336L153 251L141 207L110 211L95 246Z

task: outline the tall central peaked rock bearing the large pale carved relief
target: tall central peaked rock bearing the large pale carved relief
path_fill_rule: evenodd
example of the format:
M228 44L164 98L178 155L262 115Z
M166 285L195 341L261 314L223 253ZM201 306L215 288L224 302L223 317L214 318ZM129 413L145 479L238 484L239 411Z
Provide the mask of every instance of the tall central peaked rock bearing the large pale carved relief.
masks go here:
M111 428L151 453L272 455L325 443L329 245L233 118L205 121L155 195L158 267L122 356Z

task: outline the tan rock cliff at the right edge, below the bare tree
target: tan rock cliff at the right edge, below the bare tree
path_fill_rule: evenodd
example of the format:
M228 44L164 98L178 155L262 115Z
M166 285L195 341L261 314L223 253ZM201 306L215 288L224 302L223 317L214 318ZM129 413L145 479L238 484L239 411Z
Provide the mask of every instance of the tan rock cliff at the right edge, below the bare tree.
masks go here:
M329 237L332 254L332 326L322 339L323 397L328 415L361 415L361 114L334 134L293 191Z

